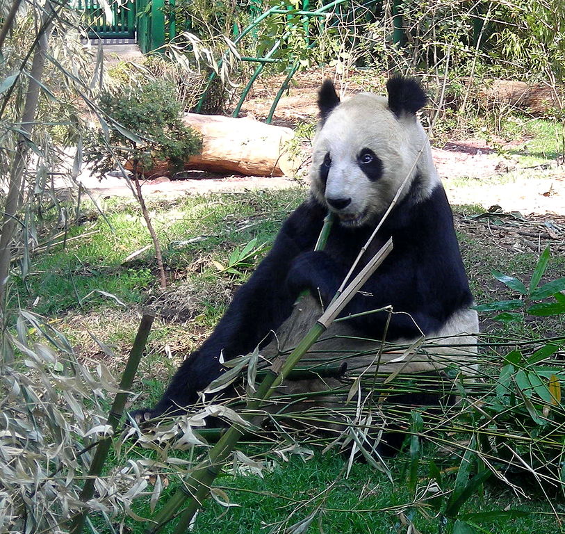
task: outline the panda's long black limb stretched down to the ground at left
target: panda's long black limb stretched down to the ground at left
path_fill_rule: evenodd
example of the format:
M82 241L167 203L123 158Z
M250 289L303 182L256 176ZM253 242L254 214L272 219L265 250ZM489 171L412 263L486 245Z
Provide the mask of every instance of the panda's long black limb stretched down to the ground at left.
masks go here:
M298 254L313 249L324 216L325 210L311 200L290 214L272 249L236 291L210 337L182 362L153 410L143 412L159 416L195 403L197 391L205 389L222 373L220 353L226 360L247 354L270 331L277 330L290 315L297 297L285 284L290 264Z

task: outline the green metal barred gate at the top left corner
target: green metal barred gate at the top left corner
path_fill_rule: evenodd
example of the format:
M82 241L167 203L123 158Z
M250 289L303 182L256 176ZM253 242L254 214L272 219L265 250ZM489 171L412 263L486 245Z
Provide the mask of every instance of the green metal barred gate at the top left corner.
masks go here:
M104 7L97 0L78 0L88 26L88 37L97 39L133 39L136 36L136 2L112 1ZM111 13L111 17L110 17Z

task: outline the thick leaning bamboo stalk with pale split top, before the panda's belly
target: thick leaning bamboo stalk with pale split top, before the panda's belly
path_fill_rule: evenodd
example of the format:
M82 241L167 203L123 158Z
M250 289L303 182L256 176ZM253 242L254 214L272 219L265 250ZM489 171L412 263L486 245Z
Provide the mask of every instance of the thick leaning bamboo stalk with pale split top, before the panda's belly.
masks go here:
M382 264L382 261L388 256L392 248L392 240L389 239L384 247L375 254L375 257L373 257L354 278L351 284L331 302L326 312L322 314L320 319L311 327L292 353L290 353L286 359L281 356L275 359L270 369L268 369L263 382L259 385L254 398L250 399L247 403L247 412L243 414L245 421L252 421L254 412L261 407L264 401L268 400L268 398L275 393L277 387L288 377L290 371L300 362L302 356L316 343L320 335L327 330L331 321L338 316L341 310L354 297L359 288L368 280L372 273L375 272L377 267ZM180 489L177 489L177 492L172 496L170 501L168 501L161 512L158 513L155 519L156 524L147 529L147 534L155 534L161 530L170 519L177 515L188 499L188 505L181 514L177 528L174 529L174 534L186 532L195 513L202 505L204 499L206 499L206 496L208 496L211 484L244 432L245 430L243 428L235 425L227 430L220 438L220 441L210 451L208 459L204 460L204 462L190 474L188 480L186 480Z

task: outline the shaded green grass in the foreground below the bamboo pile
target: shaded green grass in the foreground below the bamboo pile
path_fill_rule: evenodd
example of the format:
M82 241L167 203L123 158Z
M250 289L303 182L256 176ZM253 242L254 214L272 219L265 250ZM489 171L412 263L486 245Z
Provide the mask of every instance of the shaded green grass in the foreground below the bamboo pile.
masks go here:
M225 492L231 506L226 508L209 502L197 516L195 532L300 532L291 527L310 515L313 515L313 521L308 532L312 534L406 533L407 525L403 526L402 516L409 517L422 534L439 532L439 519L434 517L431 508L422 513L410 506L413 495L406 484L407 458L400 457L391 462L392 482L373 467L359 462L352 466L349 478L343 478L344 461L341 455L318 453L306 462L298 456L290 457L285 463L270 458L262 478L224 475L216 480L216 486ZM425 483L426 478L422 472L421 483ZM451 487L452 483L450 480ZM418 492L423 489L423 486L418 487ZM448 489L448 486L442 489ZM550 506L538 502L538 498L534 494L532 499L520 499L501 490L497 484L487 484L483 494L471 499L463 512L489 512L507 507L528 512L525 517L511 521L480 521L480 526L492 528L496 534L530 534L542 532L544 528L555 531L555 516ZM151 516L147 501L145 505L140 503L136 513L142 517ZM129 526L132 533L142 532L140 525L133 521ZM173 526L163 532L172 533Z

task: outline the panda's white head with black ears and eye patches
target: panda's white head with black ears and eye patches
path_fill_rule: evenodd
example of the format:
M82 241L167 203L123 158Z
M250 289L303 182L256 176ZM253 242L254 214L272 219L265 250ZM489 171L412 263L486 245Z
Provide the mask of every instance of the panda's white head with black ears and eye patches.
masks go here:
M389 79L386 88L388 98L361 93L340 102L328 80L318 95L321 121L313 142L311 191L347 227L382 215L403 183L400 200L407 195L416 176L419 191L411 193L417 200L439 183L416 118L427 102L425 92L402 76Z

